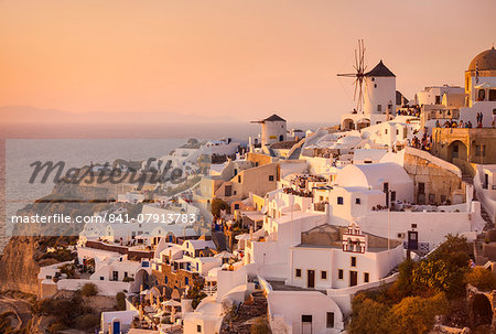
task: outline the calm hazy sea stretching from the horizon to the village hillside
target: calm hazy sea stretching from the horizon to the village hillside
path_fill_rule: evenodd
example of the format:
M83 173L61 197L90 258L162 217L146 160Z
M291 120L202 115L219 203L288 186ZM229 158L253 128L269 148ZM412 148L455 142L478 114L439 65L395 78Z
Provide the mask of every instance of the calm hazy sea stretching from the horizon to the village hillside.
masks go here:
M316 130L327 123L289 123ZM233 138L241 144L260 131L254 123L0 123L0 254L8 243L6 219L52 192L53 182L30 183L32 163L63 161L65 170L116 159L160 158L188 139Z

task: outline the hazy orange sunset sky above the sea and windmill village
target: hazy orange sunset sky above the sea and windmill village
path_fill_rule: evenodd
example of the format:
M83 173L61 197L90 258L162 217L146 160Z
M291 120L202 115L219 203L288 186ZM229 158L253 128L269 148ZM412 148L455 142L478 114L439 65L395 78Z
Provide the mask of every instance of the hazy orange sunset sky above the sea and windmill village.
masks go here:
M411 98L463 85L495 13L495 0L0 0L0 106L334 121L354 106L336 73L357 39Z

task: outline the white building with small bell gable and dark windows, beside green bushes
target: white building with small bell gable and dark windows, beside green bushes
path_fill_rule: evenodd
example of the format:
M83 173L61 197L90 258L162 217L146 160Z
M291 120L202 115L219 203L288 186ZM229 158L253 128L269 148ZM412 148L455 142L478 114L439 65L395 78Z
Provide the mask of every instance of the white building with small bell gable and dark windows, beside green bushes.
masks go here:
M325 290L378 281L402 261L403 254L402 243L363 233L356 223L320 225L303 231L301 244L291 247L285 283Z

